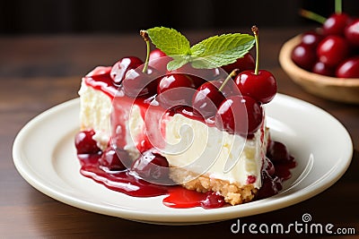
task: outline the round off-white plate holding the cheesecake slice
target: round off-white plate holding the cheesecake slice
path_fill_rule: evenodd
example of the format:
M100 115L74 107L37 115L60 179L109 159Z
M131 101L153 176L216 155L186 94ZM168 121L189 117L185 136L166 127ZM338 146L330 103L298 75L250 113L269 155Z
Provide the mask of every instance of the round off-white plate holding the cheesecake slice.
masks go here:
M13 143L13 161L22 177L40 192L80 209L156 224L197 224L240 218L304 201L326 190L346 172L353 144L333 116L302 100L277 94L267 106L267 125L298 162L293 177L276 196L221 209L171 209L162 198L134 198L113 192L79 173L74 134L79 100L38 115Z

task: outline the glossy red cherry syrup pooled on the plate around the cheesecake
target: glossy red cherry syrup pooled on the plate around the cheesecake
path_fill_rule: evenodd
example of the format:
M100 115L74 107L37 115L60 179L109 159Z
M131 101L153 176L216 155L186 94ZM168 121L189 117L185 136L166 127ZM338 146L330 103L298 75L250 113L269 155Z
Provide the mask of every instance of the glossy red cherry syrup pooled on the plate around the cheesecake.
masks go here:
M82 138L84 137L83 135L92 137L92 132L79 132L78 135L82 135ZM83 138L83 140L88 143L95 143L87 138ZM98 150L94 152L92 150L91 153L86 154L83 153L81 149L82 145L81 143L76 144L76 149L79 152L77 158L81 165L80 173L85 177L91 178L94 182L106 186L110 190L122 192L132 197L166 195L162 201L163 205L176 209L195 207L216 209L227 205L223 196L215 192L195 192L185 189L180 185L161 184L161 181L159 181L159 184L150 183L136 173L136 171L138 172L136 167L134 167L138 165L136 161L130 169L122 165L122 168L109 166L108 161L104 164L103 158L106 157L106 151L102 152ZM88 148L89 146L87 145L86 147ZM94 147L90 146L90 149L93 148ZM158 160L158 156L153 155L153 157ZM128 158L125 159L129 160ZM137 159L137 161L138 160L139 159ZM119 160L117 161L119 162ZM115 162L115 160L112 162ZM256 200L270 197L282 190L282 183L291 177L290 169L295 165L294 158L289 155L284 144L277 141L269 142L267 158L262 169L262 187L258 191ZM116 169L113 170L113 168ZM161 180L163 180L163 177L165 177L165 175L162 175ZM165 179L170 180L169 178ZM253 181L253 179L249 178L249 182L250 181Z

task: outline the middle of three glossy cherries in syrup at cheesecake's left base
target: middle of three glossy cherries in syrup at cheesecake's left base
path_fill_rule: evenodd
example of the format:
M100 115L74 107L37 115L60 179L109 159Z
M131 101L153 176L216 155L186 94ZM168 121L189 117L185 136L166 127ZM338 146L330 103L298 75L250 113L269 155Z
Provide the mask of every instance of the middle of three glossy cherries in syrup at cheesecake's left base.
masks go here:
M128 160L129 155L126 150L118 150L109 147L105 149L101 155L99 163L101 166L108 168L110 171L125 170L123 160Z

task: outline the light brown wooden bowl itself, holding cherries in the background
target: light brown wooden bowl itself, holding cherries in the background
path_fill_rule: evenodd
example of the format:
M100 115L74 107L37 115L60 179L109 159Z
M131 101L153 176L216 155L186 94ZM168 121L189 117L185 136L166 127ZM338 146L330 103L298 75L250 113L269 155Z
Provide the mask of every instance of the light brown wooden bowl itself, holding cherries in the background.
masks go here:
M279 52L279 63L285 73L304 90L321 98L359 104L359 78L336 78L311 73L293 63L291 53L301 41L301 35L285 42Z

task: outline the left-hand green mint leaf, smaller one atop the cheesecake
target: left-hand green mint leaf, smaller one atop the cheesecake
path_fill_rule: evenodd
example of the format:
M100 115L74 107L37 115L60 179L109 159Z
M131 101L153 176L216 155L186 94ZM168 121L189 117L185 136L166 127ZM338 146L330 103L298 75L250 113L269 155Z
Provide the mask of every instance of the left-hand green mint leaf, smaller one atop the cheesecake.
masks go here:
M190 55L189 41L179 31L156 27L147 30L147 33L153 45L166 55Z

